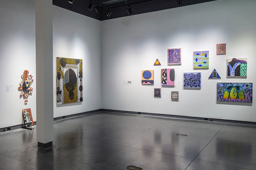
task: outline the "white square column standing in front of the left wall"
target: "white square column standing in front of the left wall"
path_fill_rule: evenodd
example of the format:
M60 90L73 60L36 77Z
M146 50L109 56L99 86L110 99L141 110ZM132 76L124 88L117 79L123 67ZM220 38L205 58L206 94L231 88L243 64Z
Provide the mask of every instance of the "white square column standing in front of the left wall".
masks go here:
M52 0L36 0L36 140L53 141Z

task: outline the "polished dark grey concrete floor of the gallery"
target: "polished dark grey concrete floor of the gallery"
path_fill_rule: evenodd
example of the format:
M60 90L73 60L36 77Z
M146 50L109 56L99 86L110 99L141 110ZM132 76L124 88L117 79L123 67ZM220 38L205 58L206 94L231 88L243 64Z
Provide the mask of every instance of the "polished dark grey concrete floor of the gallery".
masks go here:
M178 136L186 134L188 136ZM0 133L0 169L256 169L256 126L99 112L54 121L53 147L36 130Z

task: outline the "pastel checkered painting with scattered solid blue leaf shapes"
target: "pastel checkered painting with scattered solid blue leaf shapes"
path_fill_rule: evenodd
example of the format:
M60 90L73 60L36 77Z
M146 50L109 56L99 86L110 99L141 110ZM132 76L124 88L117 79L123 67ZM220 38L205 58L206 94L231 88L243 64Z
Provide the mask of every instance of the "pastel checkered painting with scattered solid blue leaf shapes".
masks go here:
M209 68L209 51L195 51L193 59L194 68Z

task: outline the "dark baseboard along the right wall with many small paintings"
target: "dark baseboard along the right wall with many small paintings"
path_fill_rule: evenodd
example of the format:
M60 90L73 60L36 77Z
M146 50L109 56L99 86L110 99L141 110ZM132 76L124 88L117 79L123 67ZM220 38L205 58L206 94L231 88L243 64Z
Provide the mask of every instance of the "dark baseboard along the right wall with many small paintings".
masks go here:
M101 109L101 111L113 112L113 113L141 114L141 115L158 116L158 117L172 117L172 118L182 118L182 119L204 120L204 121L209 121L209 122L225 122L225 123L238 123L238 124L256 125L256 122L239 121L239 120L227 120L227 119L215 119L215 118L206 118L206 117L190 117L190 116L158 114L158 113L146 113L146 112L134 112L134 111L124 111L124 110L110 110L110 109ZM213 119L213 121L210 121L210 119Z

